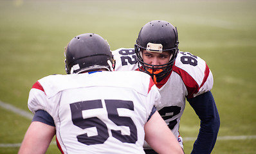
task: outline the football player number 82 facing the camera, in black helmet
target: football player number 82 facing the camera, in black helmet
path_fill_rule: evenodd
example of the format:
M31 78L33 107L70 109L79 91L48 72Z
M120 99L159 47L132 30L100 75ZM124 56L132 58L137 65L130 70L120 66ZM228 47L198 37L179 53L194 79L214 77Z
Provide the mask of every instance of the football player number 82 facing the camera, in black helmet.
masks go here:
M201 121L192 153L211 153L220 125L210 91L214 83L212 72L203 59L179 51L178 45L176 27L167 21L148 22L140 30L134 48L113 51L115 71L137 70L151 75L161 94L157 110L182 148L179 122L187 99ZM155 153L147 144L145 151Z

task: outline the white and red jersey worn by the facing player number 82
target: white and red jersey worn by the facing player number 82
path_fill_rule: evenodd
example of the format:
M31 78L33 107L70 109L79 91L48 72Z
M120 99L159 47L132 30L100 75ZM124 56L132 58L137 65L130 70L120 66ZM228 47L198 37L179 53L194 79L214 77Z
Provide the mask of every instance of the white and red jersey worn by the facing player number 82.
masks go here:
M112 53L116 60L115 71L138 69L133 48L120 48ZM156 107L176 137L179 136L179 122L186 98L194 98L211 90L213 83L212 73L203 59L179 51L172 73L156 84L161 94L161 105Z

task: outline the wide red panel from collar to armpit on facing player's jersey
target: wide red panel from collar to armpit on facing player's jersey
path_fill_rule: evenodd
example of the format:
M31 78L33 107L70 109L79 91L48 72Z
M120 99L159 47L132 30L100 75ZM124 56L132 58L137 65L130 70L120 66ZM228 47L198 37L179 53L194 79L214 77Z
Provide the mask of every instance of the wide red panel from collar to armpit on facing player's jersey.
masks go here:
M190 76L190 74L188 74L183 69L176 67L175 65L173 67L173 71L178 73L179 76L181 76L181 79L183 80L183 83L185 84L188 90L187 98L193 98L193 95L196 94L199 90L199 85L197 84L197 82L194 80L194 78L192 78L192 76Z

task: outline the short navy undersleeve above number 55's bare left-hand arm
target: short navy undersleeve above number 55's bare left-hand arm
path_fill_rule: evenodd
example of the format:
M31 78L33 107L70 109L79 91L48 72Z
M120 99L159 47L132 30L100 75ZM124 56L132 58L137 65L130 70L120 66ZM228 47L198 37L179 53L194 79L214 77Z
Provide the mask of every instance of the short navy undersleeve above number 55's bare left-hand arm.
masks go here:
M33 116L32 121L40 121L50 126L55 126L53 117L51 117L50 114L44 110L37 110Z

